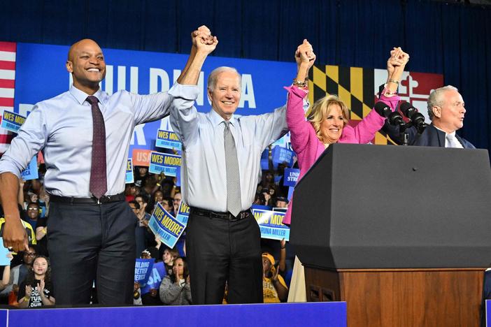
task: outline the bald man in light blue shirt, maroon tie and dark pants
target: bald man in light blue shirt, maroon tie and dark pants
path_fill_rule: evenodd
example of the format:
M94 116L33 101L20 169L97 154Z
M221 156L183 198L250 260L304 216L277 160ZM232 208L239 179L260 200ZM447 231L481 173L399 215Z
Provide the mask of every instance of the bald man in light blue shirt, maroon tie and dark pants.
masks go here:
M17 210L18 178L42 151L45 189L51 196L48 240L56 303L88 304L95 279L99 303L130 304L136 219L122 194L129 143L137 124L169 115L172 97L166 92L144 96L124 90L103 92L99 82L106 75L106 64L92 40L71 46L66 69L73 76L69 91L37 103L0 160L0 200L6 216L3 244L17 251L27 249ZM100 197L90 191L94 108L88 100L94 98L88 96L97 98L103 131L105 126L107 181L102 184L107 190ZM104 144L104 139L100 142ZM104 174L102 167L99 171Z

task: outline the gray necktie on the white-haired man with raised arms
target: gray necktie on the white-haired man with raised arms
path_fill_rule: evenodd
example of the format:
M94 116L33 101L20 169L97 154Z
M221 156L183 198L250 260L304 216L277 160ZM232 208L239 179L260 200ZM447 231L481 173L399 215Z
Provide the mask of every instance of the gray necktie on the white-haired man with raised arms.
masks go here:
M227 211L234 217L242 211L241 180L239 179L239 159L235 148L234 136L230 131L230 122L225 121L225 169L227 170Z

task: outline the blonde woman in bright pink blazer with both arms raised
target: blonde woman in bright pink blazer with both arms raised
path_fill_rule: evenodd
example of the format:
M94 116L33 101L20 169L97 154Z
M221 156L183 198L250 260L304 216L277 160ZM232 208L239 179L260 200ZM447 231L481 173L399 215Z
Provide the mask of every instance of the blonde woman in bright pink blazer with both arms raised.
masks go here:
M394 48L390 55L387 60L387 84L380 94L380 101L394 111L400 100L395 92L409 56L401 48ZM286 119L290 129L292 147L297 153L300 179L330 144L369 143L383 126L385 117L378 115L372 109L357 126L350 126L348 125L350 114L346 104L338 96L328 95L315 101L305 119L303 100L308 94L305 80L308 76L308 69L315 61L315 54L310 43L304 40L304 43L297 48L295 58L300 61L300 67L293 85L285 87L288 91ZM290 201L283 224L290 224L291 214L292 201Z

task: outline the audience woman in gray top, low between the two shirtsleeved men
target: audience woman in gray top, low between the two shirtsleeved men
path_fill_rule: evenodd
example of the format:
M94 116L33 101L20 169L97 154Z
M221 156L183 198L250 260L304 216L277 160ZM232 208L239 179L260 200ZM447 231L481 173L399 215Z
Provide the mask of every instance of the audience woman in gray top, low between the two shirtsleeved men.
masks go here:
M174 260L172 273L162 279L159 289L160 300L166 305L190 305L190 274L186 261L178 257Z

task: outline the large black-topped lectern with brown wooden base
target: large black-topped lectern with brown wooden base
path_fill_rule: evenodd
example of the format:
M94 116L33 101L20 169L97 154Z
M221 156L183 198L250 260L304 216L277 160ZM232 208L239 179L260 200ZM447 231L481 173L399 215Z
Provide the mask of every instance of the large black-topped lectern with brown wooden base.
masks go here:
M293 202L308 300L347 300L348 326L478 324L491 263L487 150L334 144Z

